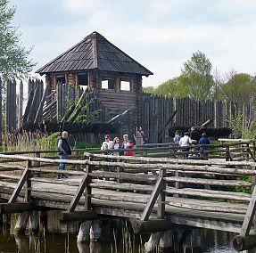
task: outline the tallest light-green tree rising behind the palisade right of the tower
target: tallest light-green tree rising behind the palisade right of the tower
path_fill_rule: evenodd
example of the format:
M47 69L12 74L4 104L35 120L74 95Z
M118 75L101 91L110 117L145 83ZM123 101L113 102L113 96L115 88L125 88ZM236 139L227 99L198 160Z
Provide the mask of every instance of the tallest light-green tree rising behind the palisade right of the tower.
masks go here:
M211 68L211 61L200 51L193 53L191 59L184 63L180 82L186 86L191 98L195 100L211 98L213 87Z

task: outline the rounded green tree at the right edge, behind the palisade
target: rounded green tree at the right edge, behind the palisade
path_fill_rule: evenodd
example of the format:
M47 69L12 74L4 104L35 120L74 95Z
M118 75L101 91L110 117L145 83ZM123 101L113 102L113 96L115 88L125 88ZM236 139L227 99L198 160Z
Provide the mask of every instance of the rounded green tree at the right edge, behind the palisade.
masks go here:
M249 102L256 94L255 78L246 73L231 71L229 78L219 90L222 99L234 102L241 108L244 102Z

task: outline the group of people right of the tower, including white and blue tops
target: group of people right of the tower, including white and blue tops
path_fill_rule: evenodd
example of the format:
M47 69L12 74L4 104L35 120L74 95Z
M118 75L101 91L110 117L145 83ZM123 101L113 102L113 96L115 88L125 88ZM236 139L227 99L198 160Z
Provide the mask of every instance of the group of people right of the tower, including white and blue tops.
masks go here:
M188 151L190 150L191 145L202 145L202 150L205 151L209 149L209 146L203 146L203 144L211 144L207 135L203 133L202 136L200 136L194 126L191 127L190 132L185 132L183 137L181 136L181 132L177 130L175 132L173 142L182 147L182 151L184 151L185 158L188 158Z

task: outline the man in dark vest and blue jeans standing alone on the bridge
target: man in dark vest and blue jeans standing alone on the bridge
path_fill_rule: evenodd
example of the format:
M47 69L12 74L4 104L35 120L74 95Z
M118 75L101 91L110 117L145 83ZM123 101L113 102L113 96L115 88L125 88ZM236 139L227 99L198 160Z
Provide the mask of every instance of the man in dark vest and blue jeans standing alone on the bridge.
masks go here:
M67 131L62 132L62 137L58 138L58 151L60 155L60 159L68 159L71 154L70 143L68 142L69 133ZM60 163L59 169L64 170L66 165L64 163ZM57 175L58 179L68 178L67 175L59 173Z

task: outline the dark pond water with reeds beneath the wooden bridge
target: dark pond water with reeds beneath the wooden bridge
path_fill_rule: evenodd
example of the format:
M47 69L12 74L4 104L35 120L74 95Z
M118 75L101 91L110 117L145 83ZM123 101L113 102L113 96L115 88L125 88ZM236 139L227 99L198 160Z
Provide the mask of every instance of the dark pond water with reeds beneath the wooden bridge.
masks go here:
M1 253L92 253L126 252L123 246L123 229L114 229L113 225L104 226L101 242L88 242L77 244L78 224L60 225L56 219L56 212L48 212L46 219L41 220L39 236L13 235L13 225L17 216L12 216L9 223L4 223L0 228L0 252ZM8 220L7 220L8 221ZM46 229L45 229L46 227ZM113 230L116 233L116 240L113 239ZM127 230L126 236L130 237L131 251L144 252L142 245L148 240L149 235L143 237L134 236ZM179 230L176 234L182 235ZM183 230L184 232L184 230ZM179 238L180 238L179 236ZM184 236L183 244L176 245L173 249L165 249L163 252L194 252L194 253L233 253L232 240L235 233L224 233L206 229L194 229ZM135 241L135 242L133 242ZM159 251L155 251L159 252ZM247 251L244 251L247 252ZM252 251L250 251L252 253ZM254 253L255 251L253 251Z

